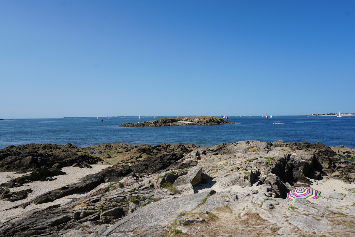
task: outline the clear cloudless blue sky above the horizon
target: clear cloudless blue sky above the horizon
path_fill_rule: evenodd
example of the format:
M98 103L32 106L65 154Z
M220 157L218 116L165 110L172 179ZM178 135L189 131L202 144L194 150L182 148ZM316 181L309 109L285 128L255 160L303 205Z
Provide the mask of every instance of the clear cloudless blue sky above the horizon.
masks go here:
M355 1L0 1L0 118L355 112Z

